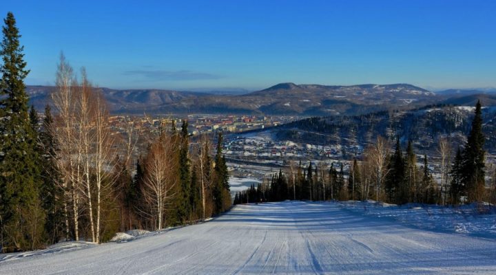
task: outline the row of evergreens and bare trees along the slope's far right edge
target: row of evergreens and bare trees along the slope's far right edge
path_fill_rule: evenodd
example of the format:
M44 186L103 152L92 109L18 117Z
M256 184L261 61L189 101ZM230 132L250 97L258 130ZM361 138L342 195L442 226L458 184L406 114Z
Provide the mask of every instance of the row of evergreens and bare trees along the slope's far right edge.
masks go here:
M402 148L397 137L393 146L378 136L364 150L363 158L329 165L290 161L285 171L258 186L236 193L234 203L299 199L367 200L388 203L438 203L459 205L474 201L495 201L496 184L486 188L485 142L482 133L482 107L477 102L466 144L453 148L448 137L438 142L440 184L433 179L427 155L418 157L413 142ZM422 165L418 165L418 162ZM349 166L344 175L343 166Z

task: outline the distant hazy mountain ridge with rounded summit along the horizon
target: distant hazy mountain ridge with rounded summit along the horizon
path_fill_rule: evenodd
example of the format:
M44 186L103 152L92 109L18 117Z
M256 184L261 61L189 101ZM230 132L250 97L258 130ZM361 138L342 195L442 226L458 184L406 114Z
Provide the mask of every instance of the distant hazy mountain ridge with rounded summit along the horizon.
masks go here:
M54 87L28 86L38 110L51 102ZM99 88L112 113L242 113L265 115L355 115L384 109L413 109L440 97L409 84L296 85L279 83L247 94L209 94L163 89Z

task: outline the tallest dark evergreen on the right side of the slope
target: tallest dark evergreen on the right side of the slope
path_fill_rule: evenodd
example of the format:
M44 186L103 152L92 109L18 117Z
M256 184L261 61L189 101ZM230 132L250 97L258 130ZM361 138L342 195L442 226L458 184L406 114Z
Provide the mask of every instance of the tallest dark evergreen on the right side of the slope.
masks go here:
M472 128L463 152L462 184L466 188L468 202L481 201L485 192L485 137L482 133L482 107L475 106Z

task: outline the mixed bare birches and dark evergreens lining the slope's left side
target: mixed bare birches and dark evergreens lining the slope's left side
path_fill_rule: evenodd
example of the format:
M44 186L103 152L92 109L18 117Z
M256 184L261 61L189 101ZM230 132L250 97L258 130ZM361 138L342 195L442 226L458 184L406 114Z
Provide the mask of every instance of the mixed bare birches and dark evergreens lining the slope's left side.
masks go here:
M52 106L28 107L21 34L9 12L0 45L0 243L2 252L63 240L100 243L115 232L161 230L231 206L222 151L192 142L183 120L140 133L112 129L105 98L61 54ZM143 149L140 149L143 148ZM215 155L212 155L215 151ZM138 157L134 157L138 155ZM136 173L134 173L136 170Z

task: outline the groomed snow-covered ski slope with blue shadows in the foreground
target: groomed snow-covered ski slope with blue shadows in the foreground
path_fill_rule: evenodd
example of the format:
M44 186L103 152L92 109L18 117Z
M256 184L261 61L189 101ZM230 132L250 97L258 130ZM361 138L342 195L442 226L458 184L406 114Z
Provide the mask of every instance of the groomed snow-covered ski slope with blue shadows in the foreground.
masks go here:
M338 203L236 206L207 223L0 261L0 274L496 274L496 241Z

